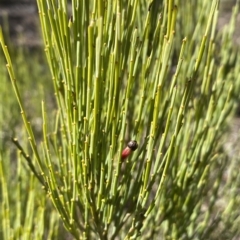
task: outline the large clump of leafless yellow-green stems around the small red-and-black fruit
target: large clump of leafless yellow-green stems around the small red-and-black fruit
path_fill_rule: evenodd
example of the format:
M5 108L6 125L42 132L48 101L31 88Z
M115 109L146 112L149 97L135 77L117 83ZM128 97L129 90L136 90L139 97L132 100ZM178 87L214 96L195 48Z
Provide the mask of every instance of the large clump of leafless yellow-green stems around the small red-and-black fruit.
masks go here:
M217 0L37 3L58 104L52 130L42 102L41 144L0 38L32 155L14 142L66 229L76 239L206 239L239 91L238 8L216 36ZM130 140L139 147L122 161Z

